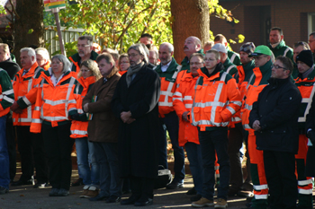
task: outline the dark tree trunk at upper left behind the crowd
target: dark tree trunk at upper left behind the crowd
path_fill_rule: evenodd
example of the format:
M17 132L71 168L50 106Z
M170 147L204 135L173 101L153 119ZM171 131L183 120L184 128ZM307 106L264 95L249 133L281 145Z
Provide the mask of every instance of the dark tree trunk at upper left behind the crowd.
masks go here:
M19 17L15 15L14 20L14 55L20 64L21 48L44 47L43 1L18 0L16 13Z

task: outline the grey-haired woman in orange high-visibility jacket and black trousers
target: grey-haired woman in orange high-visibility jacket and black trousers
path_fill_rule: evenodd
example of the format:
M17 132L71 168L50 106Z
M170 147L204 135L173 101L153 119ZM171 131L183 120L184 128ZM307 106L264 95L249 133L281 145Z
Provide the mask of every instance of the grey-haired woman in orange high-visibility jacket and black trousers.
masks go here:
M31 132L42 132L44 149L49 165L49 196L68 196L74 139L70 138L71 121L76 113L73 91L76 78L72 76L70 62L63 55L52 57L51 67L41 73Z

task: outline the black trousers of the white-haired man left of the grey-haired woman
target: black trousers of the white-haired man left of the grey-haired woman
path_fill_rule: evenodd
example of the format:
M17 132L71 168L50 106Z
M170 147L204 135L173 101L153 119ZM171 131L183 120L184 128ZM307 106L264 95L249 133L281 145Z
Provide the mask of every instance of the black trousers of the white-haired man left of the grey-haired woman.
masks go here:
M22 180L31 179L36 169L36 179L40 183L48 182L47 162L43 138L30 132L30 126L16 126L18 150L21 155Z

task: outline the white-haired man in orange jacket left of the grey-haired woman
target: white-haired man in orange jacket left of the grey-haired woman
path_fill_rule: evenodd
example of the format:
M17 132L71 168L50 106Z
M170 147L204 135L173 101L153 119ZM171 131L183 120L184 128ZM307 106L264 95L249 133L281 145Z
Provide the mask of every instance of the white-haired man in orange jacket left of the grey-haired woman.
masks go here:
M40 73L44 71L37 65L35 50L21 49L23 68L14 76L14 104L11 106L14 126L16 126L18 150L21 154L22 176L12 186L34 184L34 165L37 184L34 187L47 187L47 163L42 135L30 132L31 114L34 110Z

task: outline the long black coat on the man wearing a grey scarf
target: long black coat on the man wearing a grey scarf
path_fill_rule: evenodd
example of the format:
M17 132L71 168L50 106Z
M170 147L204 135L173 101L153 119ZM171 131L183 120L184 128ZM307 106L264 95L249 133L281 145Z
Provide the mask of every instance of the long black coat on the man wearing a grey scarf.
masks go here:
M121 76L112 98L112 110L117 118L122 111L131 112L136 120L125 124L120 119L118 147L121 177L157 177L158 74L143 65L130 83Z

